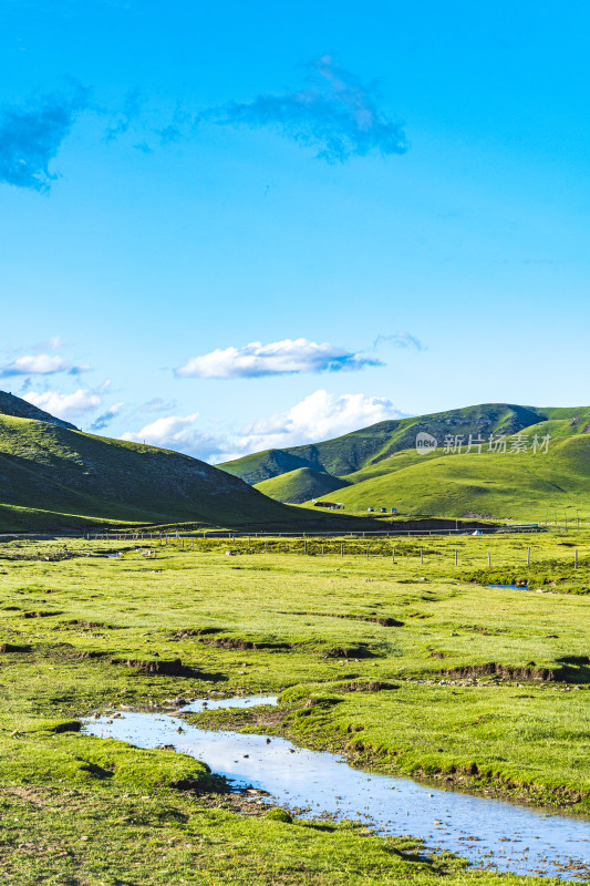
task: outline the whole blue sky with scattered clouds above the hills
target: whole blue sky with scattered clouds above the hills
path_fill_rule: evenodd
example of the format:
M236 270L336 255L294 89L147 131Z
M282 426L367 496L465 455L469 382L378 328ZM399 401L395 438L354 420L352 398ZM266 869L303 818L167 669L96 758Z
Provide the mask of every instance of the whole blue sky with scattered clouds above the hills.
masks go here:
M0 387L214 462L587 404L589 25L2 0Z

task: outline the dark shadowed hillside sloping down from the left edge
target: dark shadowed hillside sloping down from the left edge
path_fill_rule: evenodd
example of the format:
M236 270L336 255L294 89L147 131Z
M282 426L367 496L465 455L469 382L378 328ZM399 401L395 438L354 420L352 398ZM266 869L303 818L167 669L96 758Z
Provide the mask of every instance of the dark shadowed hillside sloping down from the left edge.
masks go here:
M0 398L0 530L106 522L293 527L307 518L188 455L84 434Z

